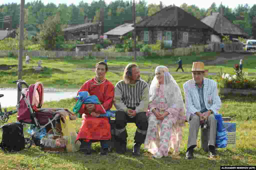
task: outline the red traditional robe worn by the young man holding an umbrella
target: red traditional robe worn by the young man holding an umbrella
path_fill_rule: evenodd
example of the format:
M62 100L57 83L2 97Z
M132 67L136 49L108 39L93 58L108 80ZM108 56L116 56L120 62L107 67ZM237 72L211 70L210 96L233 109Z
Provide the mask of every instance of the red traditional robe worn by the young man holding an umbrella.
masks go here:
M95 104L93 112L104 114L102 110L109 110L113 105L114 86L106 79L98 82L96 78L88 80L83 84L78 92L87 91L90 95L96 95L101 104ZM103 109L103 108L104 109ZM82 120L82 125L77 135L77 140L84 139L89 142L90 140L109 140L111 139L111 129L109 119L107 117L93 117L89 114L85 104L82 104L79 113L86 114Z

